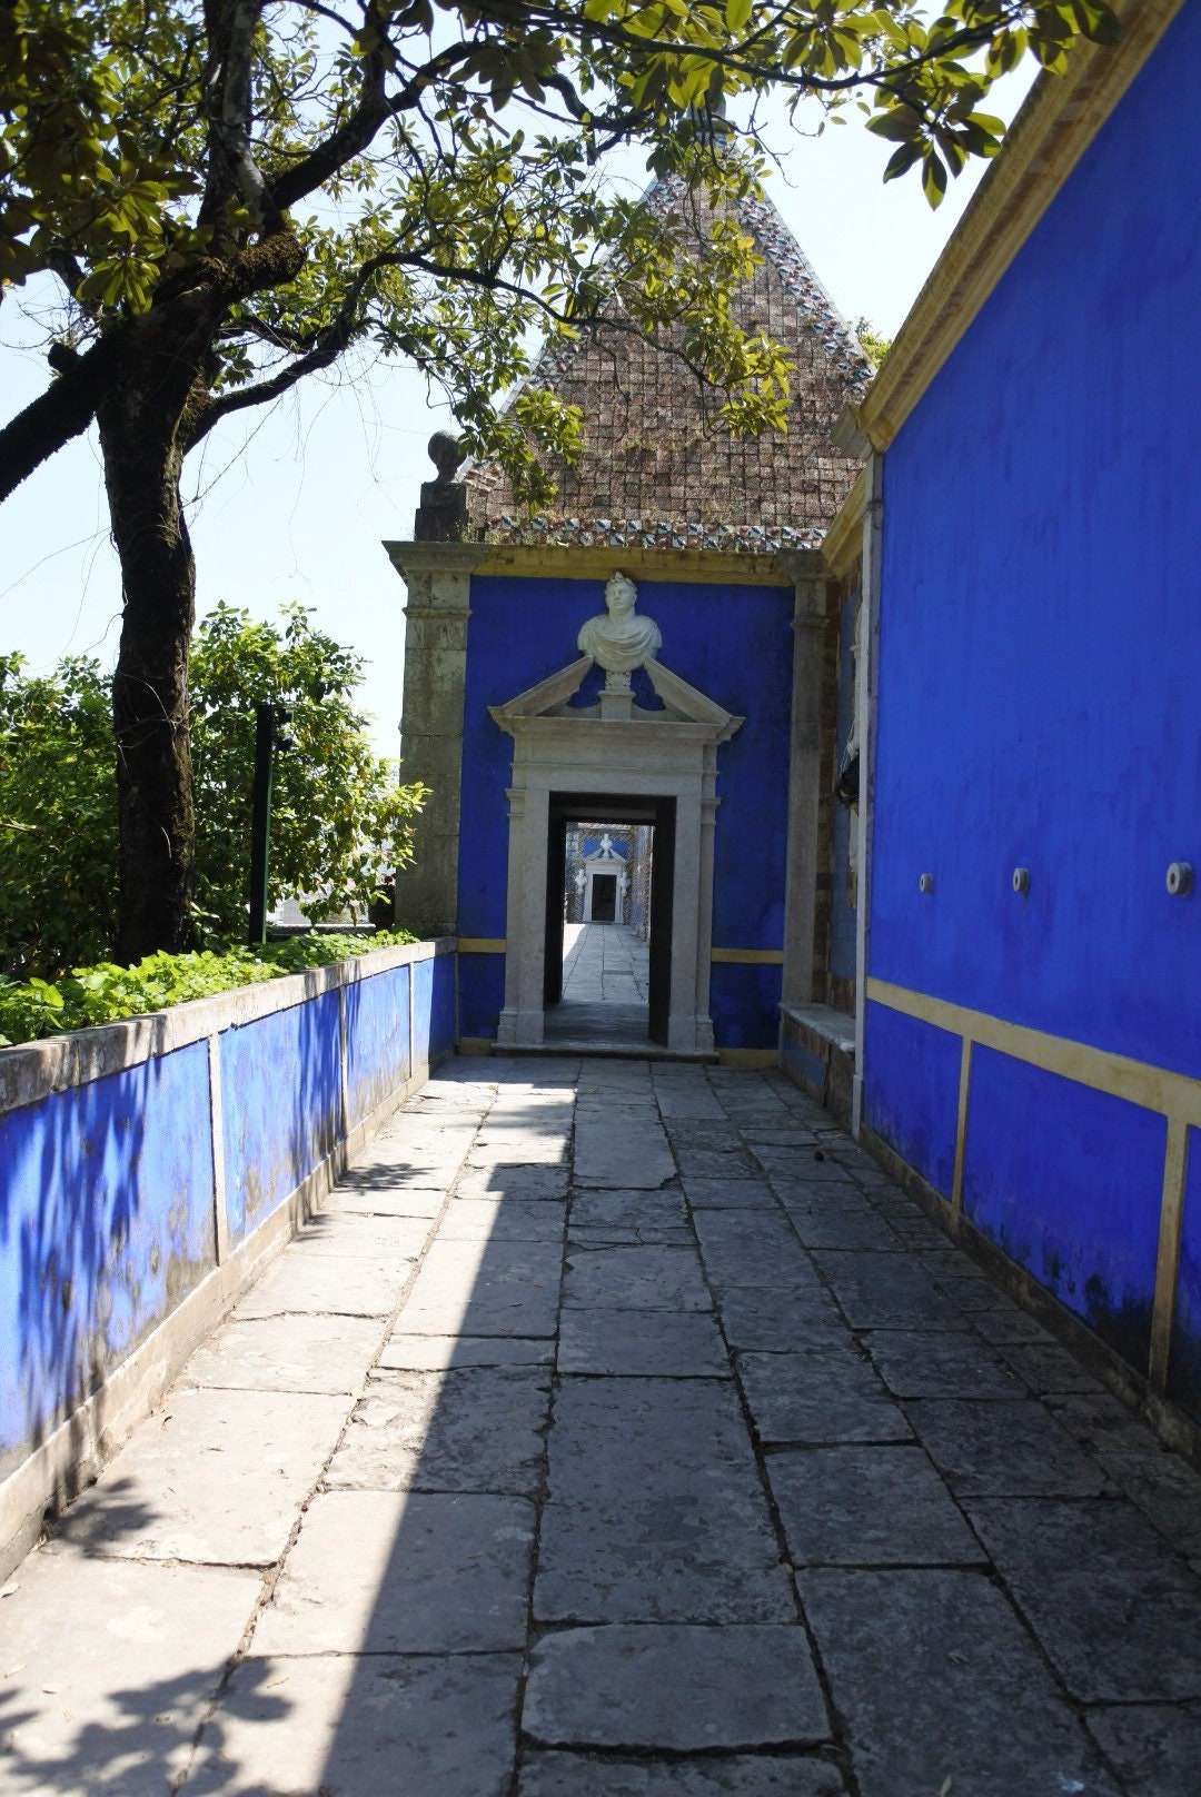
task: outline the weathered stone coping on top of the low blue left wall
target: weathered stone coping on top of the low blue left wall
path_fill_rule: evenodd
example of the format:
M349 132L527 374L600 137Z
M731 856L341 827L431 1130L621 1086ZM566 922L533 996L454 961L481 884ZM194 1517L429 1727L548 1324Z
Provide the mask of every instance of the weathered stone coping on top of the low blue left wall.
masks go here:
M0 1118L9 1111L36 1105L52 1093L90 1085L92 1080L110 1073L124 1073L128 1067L171 1055L176 1048L257 1022L273 1012L291 1010L322 992L338 992L360 979L370 979L372 974L387 974L394 967L410 967L453 951L453 936L397 943L345 961L329 961L325 967L311 967L300 974L282 974L279 979L262 979L252 987L232 987L203 999L187 999L183 1005L146 1012L142 1017L124 1017L92 1030L52 1035L41 1042L0 1048Z

